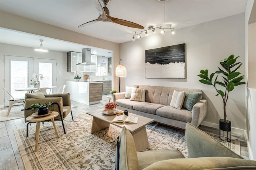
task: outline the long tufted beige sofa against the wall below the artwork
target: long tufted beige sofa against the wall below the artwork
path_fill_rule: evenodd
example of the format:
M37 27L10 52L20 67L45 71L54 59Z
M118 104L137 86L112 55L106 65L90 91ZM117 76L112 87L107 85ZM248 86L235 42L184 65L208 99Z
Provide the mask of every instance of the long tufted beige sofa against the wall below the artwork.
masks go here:
M187 122L198 127L206 116L207 101L203 100L202 96L199 102L194 104L192 112L170 106L174 90L185 92L202 92L202 90L147 85L134 85L134 87L146 89L145 102L125 99L125 92L114 93L113 102L118 105L117 109L128 110L130 113L149 117L158 123L181 129L185 129Z

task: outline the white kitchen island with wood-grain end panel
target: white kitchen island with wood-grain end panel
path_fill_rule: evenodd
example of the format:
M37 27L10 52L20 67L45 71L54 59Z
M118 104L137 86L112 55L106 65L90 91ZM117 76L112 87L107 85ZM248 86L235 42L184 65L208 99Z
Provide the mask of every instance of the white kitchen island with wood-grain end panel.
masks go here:
M66 81L66 92L71 100L91 105L102 100L102 86L103 82Z

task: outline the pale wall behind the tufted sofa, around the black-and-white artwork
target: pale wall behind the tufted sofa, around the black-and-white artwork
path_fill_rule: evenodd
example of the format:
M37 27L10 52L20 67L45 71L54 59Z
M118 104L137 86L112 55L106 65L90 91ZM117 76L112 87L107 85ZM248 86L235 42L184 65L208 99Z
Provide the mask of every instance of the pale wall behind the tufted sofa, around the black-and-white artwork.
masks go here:
M212 86L201 84L197 75L201 69L209 72L218 70L221 59L232 54L240 56L239 61L245 61L245 26L244 14L210 21L175 30L175 34L152 35L136 39L120 45L120 58L127 68L127 77L121 82L125 86L147 84L155 86L173 86L199 88L203 90L203 98L208 100L208 113L204 119L207 125L218 128L219 119L224 118L223 104L220 96ZM186 78L185 79L146 79L145 50L186 43ZM245 74L245 65L239 70ZM232 127L245 129L245 85L237 86L235 92L230 92L227 104L227 119L232 121Z

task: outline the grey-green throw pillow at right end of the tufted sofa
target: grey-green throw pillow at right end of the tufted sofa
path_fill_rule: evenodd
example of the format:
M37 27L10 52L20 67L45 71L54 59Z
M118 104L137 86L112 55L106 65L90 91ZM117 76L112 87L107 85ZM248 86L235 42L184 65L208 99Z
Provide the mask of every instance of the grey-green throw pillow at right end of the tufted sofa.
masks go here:
M193 106L201 99L202 92L186 92L183 107L192 112Z

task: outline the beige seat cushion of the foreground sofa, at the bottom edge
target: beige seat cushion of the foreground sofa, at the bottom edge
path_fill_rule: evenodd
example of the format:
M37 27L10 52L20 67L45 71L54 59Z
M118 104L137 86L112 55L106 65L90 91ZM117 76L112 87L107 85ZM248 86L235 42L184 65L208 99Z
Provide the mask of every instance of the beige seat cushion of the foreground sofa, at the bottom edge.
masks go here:
M183 154L180 153L178 149L138 151L137 156L140 169L146 168L157 161L184 158Z

